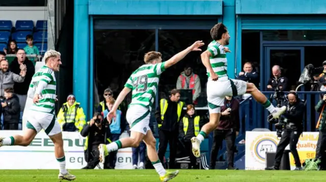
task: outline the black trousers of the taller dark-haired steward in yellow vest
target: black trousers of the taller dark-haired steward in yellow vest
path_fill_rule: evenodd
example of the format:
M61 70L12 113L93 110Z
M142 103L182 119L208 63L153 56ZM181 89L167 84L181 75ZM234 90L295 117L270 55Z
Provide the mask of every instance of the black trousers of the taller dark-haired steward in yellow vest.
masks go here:
M164 156L167 152L168 143L170 146L170 162L169 168L175 168L175 158L177 155L177 145L178 145L178 132L177 131L158 131L158 158L164 163Z

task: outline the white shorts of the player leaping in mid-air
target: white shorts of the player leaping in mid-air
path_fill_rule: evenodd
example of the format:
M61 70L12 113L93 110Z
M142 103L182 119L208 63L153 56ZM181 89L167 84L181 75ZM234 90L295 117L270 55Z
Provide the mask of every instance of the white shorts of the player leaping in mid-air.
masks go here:
M221 106L224 105L225 96L243 95L247 91L247 82L221 78L218 81L212 81L208 78L207 82L207 102L208 111L212 113L221 113Z

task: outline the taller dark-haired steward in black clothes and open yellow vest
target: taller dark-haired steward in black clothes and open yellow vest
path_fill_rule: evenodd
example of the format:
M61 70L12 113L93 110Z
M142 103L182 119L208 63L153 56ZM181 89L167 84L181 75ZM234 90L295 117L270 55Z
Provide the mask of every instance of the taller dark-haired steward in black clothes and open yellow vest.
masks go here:
M177 144L179 135L179 121L183 117L184 103L179 101L180 91L171 90L169 99L160 99L158 110L155 112L155 118L158 124L158 158L164 161L168 143L170 145L170 163L169 167L174 169L175 158L177 154Z

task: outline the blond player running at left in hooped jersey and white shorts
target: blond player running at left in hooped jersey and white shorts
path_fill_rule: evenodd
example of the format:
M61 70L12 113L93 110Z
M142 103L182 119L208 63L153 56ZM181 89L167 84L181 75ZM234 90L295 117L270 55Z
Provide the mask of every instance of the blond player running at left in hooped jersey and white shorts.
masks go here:
M5 145L28 146L36 134L44 129L55 144L55 156L60 166L58 178L74 180L76 176L69 174L66 169L61 127L55 115L57 97L55 71L59 71L62 64L60 57L61 54L57 51L46 51L44 54L45 65L34 74L28 90L28 96L33 98L34 104L28 111L26 130L23 135L0 137L0 147Z

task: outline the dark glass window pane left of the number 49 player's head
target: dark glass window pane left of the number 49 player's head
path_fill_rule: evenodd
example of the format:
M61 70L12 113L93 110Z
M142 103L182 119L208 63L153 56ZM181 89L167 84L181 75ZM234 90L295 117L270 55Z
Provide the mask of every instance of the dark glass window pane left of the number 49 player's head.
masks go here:
M94 30L94 105L103 100L107 87L117 98L132 71L144 64L144 55L155 51L155 30ZM125 113L131 93L122 105Z

